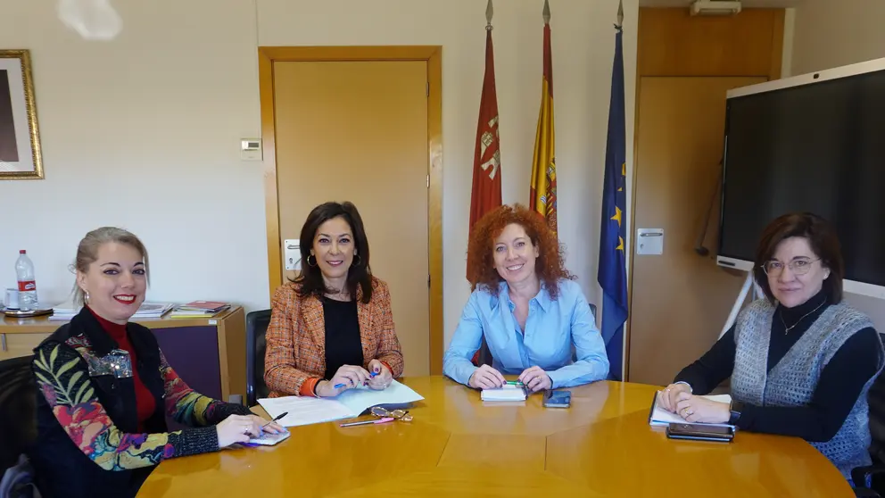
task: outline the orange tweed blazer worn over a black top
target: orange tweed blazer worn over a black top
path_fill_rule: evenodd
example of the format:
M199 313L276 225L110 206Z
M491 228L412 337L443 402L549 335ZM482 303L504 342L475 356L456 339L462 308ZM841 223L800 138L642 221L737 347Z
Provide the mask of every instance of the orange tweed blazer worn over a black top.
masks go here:
M264 382L270 397L298 395L302 384L326 373L326 320L323 303L316 297L300 297L298 284L279 286L271 302L271 318L266 335ZM360 301L357 316L362 339L363 368L378 360L390 365L394 378L402 375L400 340L393 327L390 289L379 278L372 278L372 299Z

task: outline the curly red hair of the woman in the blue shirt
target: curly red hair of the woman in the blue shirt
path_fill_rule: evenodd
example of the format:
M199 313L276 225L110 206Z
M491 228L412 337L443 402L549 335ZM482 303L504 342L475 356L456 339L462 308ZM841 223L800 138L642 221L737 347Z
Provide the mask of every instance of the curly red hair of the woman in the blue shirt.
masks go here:
M541 278L542 285L550 293L550 298L556 299L559 295L559 279L572 280L575 277L566 270L565 254L546 220L522 204L495 208L485 213L474 225L467 244L467 280L470 282L470 290L475 291L479 287L492 295L498 295L499 283L504 279L495 269L492 253L495 238L511 223L524 228L532 244L538 247L534 269L538 278Z

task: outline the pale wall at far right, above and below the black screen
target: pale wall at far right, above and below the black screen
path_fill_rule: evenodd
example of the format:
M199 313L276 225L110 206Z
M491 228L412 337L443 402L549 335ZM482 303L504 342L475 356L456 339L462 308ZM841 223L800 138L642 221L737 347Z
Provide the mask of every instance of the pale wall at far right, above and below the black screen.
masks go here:
M881 0L807 0L796 8L792 74L885 57L882 20ZM885 333L885 301L864 295L846 295L846 300L870 315L876 329Z

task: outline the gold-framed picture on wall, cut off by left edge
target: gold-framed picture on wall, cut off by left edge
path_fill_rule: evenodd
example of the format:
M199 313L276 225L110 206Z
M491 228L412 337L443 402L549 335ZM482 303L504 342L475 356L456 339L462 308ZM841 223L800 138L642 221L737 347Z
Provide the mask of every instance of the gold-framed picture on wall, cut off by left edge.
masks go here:
M42 179L29 50L0 50L0 180Z

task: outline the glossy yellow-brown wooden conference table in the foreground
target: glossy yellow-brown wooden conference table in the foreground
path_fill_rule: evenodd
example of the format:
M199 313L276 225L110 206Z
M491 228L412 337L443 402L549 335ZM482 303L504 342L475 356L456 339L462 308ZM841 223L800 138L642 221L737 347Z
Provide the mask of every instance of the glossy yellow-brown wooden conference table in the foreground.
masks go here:
M667 439L648 424L655 386L575 387L564 410L541 394L502 405L448 378L401 380L426 398L411 422L292 427L277 446L163 461L138 496L854 496L798 438Z

